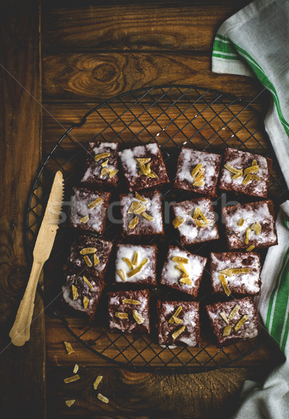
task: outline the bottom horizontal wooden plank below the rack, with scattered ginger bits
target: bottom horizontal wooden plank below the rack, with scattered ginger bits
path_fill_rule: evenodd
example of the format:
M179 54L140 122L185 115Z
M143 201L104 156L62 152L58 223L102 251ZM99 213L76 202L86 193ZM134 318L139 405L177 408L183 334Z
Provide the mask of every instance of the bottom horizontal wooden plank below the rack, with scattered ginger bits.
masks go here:
M51 418L179 419L230 418L237 410L245 379L261 381L272 368L220 369L200 374L145 374L80 363L80 380L64 384L73 375L69 367L47 369L48 415ZM96 376L103 380L94 390ZM108 397L105 404L98 392ZM68 408L66 399L75 399Z

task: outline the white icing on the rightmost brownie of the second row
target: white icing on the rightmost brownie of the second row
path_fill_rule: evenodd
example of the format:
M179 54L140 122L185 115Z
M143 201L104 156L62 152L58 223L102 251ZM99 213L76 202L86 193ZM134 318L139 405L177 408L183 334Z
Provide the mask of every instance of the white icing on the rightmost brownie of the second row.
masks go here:
M253 223L259 222L261 225L261 233L257 236L255 231L251 230L249 234L249 245L265 245L270 246L274 244L276 235L274 233L274 219L269 212L269 207L266 201L261 201L258 206L254 209L250 205L237 205L237 210L234 214L224 214L225 226L228 230L234 231L234 235L230 236L230 244L232 247L239 247L239 241L244 242L246 229L249 228ZM238 226L238 221L244 219L242 226ZM269 228L265 230L262 228L266 226ZM249 246L248 245L248 246Z

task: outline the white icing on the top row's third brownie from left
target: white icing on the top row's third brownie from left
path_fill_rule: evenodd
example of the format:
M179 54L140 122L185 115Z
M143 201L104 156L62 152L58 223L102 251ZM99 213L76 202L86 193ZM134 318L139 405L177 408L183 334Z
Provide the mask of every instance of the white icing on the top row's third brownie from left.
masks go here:
M179 165L177 168L177 180L187 180L191 184L194 178L191 172L195 166L202 163L204 172L204 186L198 186L198 189L205 190L207 186L212 186L216 182L214 178L218 177L219 156L218 154L198 152L193 149L181 149L179 154Z

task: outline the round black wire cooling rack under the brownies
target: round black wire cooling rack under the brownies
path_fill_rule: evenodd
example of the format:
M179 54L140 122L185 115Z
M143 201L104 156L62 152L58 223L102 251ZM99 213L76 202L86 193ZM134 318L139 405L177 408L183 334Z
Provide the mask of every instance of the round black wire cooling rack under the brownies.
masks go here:
M89 110L78 124L73 124L55 143L52 151L45 156L44 163L36 178L27 208L27 253L30 262L36 235L42 221L47 199L57 170L61 170L65 181L64 214L50 259L45 263L44 284L38 286L45 304L50 307L54 316L64 323L71 335L96 355L111 360L120 367L134 371L188 373L205 372L231 365L251 353L262 344L261 337L218 348L214 343L212 332L204 314L205 304L212 302L209 290L209 275L205 272L201 282L201 348L184 346L161 347L157 344L154 327L152 335L112 334L105 321L105 293L96 311L96 318L89 323L64 307L61 302L61 286L64 282L62 267L68 256L71 242L77 232L66 227L66 214L72 186L77 185L82 176L84 163L84 142L89 140L117 141L121 147L158 142L163 152L163 159L168 168L170 185L161 189L163 205L172 200L184 200L185 192L172 188L175 176L178 150L181 145L194 147L208 152L223 152L225 147L235 147L244 151L256 152L270 156L273 172L269 185L268 198L278 207L288 198L286 183L274 156L269 140L265 135L262 117L251 104L212 89L195 86L161 86L146 87L121 94ZM123 181L112 191L112 203L117 202L119 193L127 192ZM214 201L216 214L221 207L230 203L249 202L248 198L230 196L221 193ZM175 229L172 228L172 216L164 212L165 236L152 237L149 242L158 247L158 274L165 259L168 245L179 246ZM170 216L169 216L170 215ZM121 240L119 215L108 219L104 237L117 243ZM108 217L110 218L110 217ZM112 217L111 217L112 218ZM219 228L222 226L220 221ZM202 243L191 249L193 253L208 256L211 251L225 251L225 242L217 240ZM264 258L265 253L261 253ZM113 260L113 256L112 259ZM116 289L110 284L113 277L114 263L110 263L107 274L107 289ZM190 296L180 295L179 291L164 288L151 290L151 300L157 297L168 300L189 300ZM154 312L151 313L151 325L155 323Z

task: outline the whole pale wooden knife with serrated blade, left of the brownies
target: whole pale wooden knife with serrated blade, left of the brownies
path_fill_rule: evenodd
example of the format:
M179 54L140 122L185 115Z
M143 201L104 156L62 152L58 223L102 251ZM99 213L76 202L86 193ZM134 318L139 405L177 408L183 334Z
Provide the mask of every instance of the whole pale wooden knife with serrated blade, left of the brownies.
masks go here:
M49 258L58 229L64 195L64 179L58 171L54 177L47 207L33 251L33 265L23 299L17 311L9 336L15 346L22 346L30 339L30 325L38 279L45 261Z

